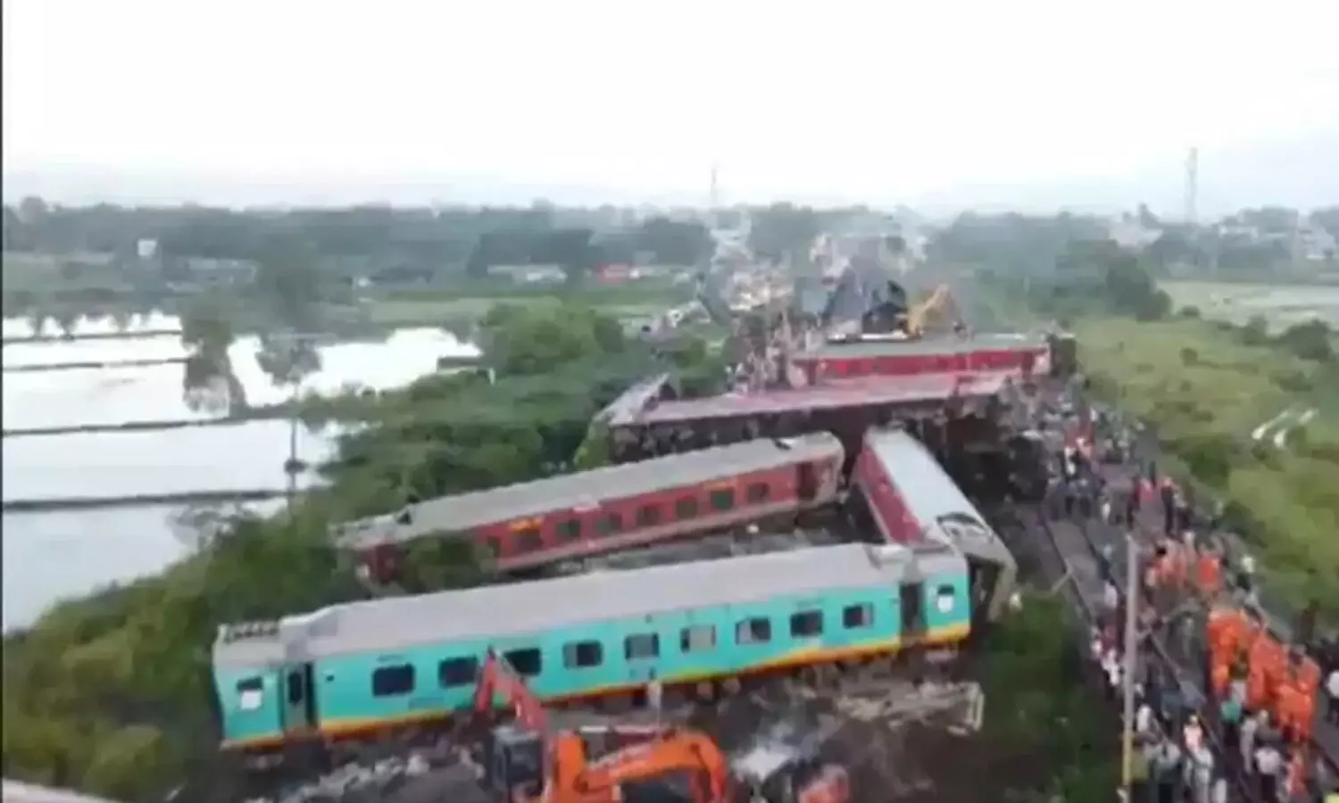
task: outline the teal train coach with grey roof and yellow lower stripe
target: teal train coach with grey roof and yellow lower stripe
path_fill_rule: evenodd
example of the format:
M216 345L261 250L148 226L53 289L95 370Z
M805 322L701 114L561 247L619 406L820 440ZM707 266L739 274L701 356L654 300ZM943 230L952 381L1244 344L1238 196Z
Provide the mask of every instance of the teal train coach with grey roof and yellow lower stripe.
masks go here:
M797 549L225 625L214 692L224 748L265 752L469 711L489 648L554 703L953 646L971 608L948 541Z

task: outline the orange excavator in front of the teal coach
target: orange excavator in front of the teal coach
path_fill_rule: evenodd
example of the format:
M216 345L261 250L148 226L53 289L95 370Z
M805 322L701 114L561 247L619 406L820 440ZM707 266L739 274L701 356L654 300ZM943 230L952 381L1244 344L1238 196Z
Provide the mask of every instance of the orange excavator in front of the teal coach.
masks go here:
M506 660L489 650L475 711L497 697L516 720L490 731L485 786L498 803L849 803L841 767L813 749L759 743L735 766L704 733L672 727L550 731L548 715Z

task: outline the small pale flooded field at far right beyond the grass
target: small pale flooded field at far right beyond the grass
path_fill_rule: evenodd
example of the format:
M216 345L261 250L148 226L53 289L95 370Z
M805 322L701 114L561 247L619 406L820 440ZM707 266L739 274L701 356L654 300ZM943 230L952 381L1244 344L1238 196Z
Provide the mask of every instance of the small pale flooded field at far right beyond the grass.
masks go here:
M1245 324L1264 316L1275 332L1319 319L1339 327L1339 285L1267 285L1166 281L1177 309L1197 306L1204 317Z

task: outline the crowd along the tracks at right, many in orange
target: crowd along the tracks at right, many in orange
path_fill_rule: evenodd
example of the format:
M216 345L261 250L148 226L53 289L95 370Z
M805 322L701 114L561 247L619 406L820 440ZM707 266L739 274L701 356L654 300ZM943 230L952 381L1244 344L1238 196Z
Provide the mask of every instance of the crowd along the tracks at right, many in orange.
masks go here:
M1105 588L1091 650L1113 700L1125 691L1125 673L1135 673L1129 679L1137 701L1131 796L1138 803L1227 802L1236 799L1240 782L1261 803L1339 803L1339 779L1307 747L1316 704L1324 707L1323 719L1339 725L1339 644L1316 637L1315 610L1300 617L1297 641L1310 649L1272 662L1265 646L1245 654L1241 641L1228 644L1213 632L1214 620L1205 614L1218 608L1248 612L1241 621L1264 630L1253 559L1229 550L1221 506L1204 514L1176 482L1158 475L1153 459L1141 459L1133 427L1074 399L1043 416L1043 427L1059 434L1050 509L1089 534L1103 526L1117 534L1098 539ZM1133 479L1109 482L1113 472L1105 467L1121 464L1125 470L1114 474ZM1160 519L1156 533L1141 525L1141 513L1149 511ZM1121 533L1138 537L1125 541ZM1126 662L1118 584L1130 557L1139 561L1141 638ZM1181 668L1160 660L1152 638L1180 646Z

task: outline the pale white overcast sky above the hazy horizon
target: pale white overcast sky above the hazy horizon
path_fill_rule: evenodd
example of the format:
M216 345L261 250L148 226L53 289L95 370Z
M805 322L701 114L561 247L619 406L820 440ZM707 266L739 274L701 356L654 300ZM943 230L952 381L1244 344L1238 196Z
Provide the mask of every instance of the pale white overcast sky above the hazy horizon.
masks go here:
M706 194L718 163L736 197L1113 177L1339 131L1336 31L1334 0L5 0L4 165Z

